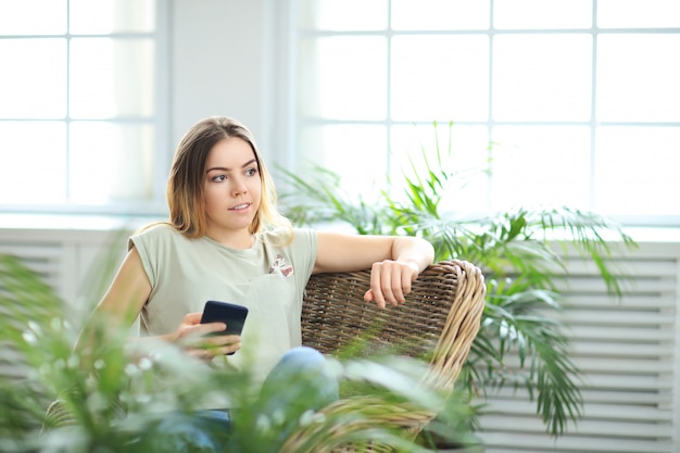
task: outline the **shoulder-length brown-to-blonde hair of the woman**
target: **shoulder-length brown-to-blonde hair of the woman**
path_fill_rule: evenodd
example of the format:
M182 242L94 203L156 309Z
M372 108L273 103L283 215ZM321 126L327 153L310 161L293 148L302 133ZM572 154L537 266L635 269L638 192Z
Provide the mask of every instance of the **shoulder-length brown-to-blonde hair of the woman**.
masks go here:
M206 213L203 179L205 162L211 149L221 140L238 137L253 150L260 168L262 198L257 213L249 225L251 234L263 229L286 228L292 240L292 226L277 210L277 194L269 172L260 155L253 135L237 119L212 116L191 126L179 141L167 181L169 224L189 238L206 232Z

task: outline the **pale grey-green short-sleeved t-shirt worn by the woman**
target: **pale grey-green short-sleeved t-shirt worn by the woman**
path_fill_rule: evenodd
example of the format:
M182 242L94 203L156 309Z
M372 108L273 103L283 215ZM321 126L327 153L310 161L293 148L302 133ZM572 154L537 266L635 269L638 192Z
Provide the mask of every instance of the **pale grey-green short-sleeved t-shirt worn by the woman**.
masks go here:
M274 246L282 230L257 234L247 250L207 237L189 239L168 225L130 237L152 287L139 316L141 335L175 331L187 313L202 312L209 300L244 305L241 349L225 356L225 365L248 364L263 381L281 355L302 342L302 298L316 260L316 231L293 231L285 247Z

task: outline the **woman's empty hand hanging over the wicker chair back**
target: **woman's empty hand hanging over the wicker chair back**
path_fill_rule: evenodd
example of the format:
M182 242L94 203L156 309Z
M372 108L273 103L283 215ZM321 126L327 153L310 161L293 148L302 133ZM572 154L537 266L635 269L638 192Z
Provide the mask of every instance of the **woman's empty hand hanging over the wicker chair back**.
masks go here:
M376 302L380 309L385 309L388 303L400 305L406 301L411 284L418 274L418 265L411 261L385 260L374 263L370 268L370 289L364 299Z

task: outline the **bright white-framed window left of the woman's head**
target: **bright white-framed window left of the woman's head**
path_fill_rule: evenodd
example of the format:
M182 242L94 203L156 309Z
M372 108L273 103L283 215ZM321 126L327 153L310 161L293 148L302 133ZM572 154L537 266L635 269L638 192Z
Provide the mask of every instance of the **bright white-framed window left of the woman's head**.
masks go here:
M158 205L156 16L154 0L0 0L0 209Z

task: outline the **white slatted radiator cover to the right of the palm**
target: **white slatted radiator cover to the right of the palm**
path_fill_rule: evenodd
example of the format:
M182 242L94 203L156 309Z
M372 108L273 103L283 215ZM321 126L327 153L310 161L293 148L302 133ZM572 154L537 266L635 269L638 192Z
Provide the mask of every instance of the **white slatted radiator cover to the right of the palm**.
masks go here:
M559 289L571 358L585 373L583 419L554 439L526 391L503 390L481 418L487 453L680 452L680 243L640 243L616 256L628 278L621 299L607 295L591 262L569 256Z

